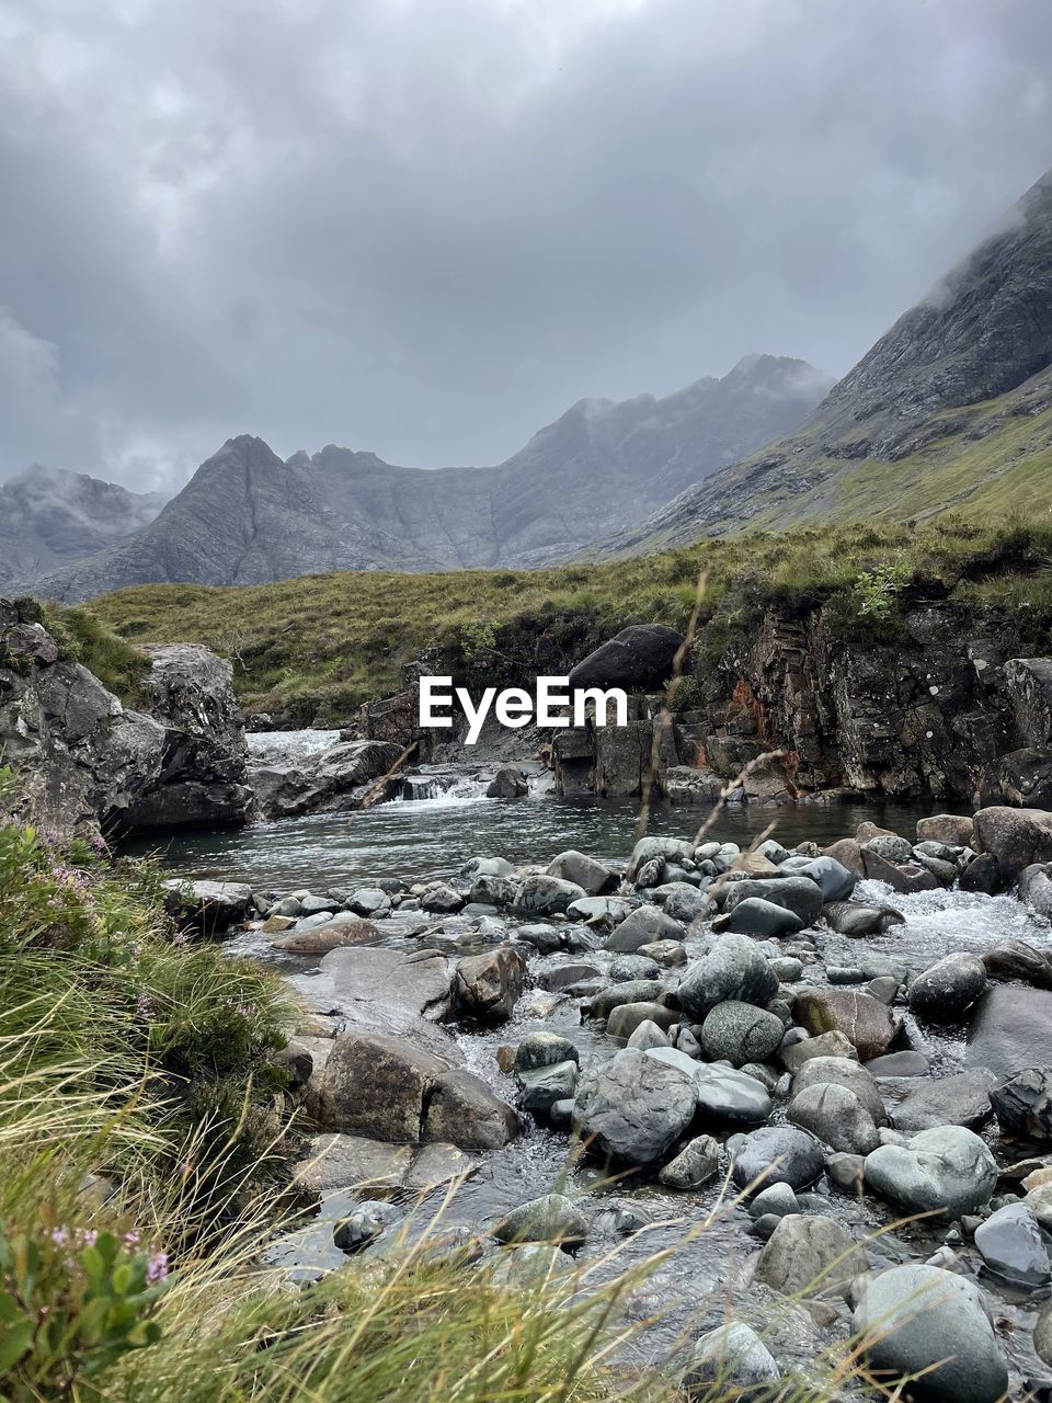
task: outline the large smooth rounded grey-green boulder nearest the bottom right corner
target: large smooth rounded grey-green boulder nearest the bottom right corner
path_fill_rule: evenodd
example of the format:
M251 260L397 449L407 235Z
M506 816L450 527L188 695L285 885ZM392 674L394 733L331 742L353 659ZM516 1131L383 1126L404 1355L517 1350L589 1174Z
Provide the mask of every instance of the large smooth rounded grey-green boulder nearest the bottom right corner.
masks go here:
M997 1403L1009 1386L983 1294L955 1273L906 1266L867 1278L851 1329L871 1369L923 1375L909 1392L924 1403Z

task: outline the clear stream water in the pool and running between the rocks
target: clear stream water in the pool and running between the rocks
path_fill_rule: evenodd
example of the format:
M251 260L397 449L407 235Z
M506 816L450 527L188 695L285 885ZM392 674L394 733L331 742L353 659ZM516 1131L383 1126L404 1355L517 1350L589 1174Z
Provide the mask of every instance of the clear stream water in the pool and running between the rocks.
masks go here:
M501 856L515 864L547 863L568 847L595 857L624 859L634 842L635 804L630 801L560 800L551 796L532 796L518 801L487 800L481 797L483 781L477 776L442 773L435 780L410 786L410 793L431 793L438 797L403 800L377 805L351 815L313 815L258 824L240 831L209 831L180 833L166 842L129 845L135 850L154 850L164 863L187 875L247 880L261 890L289 891L310 887L352 888L380 877L401 877L418 881L454 874L470 857ZM865 818L903 835L913 835L916 821L937 805L865 804L865 805L808 805L798 808L731 807L718 819L713 836L748 843L769 824L780 842L791 846L804 839L829 843L851 835ZM690 836L707 815L703 808L655 808L649 831L675 836ZM1018 936L1035 944L1052 944L1049 923L1035 918L1010 897L989 898L955 891L923 892L896 897L877 884L860 884L860 897L881 897L906 918L903 926L892 927L885 936L867 940L865 950L881 951L910 971L922 969L954 950L983 950L1006 936ZM508 933L515 922L505 920ZM387 925L386 941L412 948L397 919ZM454 918L449 934L438 939L429 933L428 944L445 944L450 953L470 948L463 936L468 922ZM382 927L384 923L382 923ZM233 940L233 950L281 961L285 972L297 976L300 988L310 988L311 971L317 961L276 955L268 937L248 934ZM846 940L832 932L818 937L822 965L851 964L860 954L860 941ZM584 960L599 971L606 971L610 957L595 950L585 955L548 955L530 958L536 976L560 960ZM818 965L821 972L822 965ZM495 1054L501 1044L516 1044L532 1028L551 1028L564 1033L581 1051L582 1066L605 1061L610 1042L582 1024L578 1005L568 998L530 989L520 1000L513 1020L498 1030L461 1030L459 1042L467 1065L483 1076L505 1100L515 1099L511 1078L497 1068ZM962 1030L948 1030L929 1040L927 1052L937 1073L955 1070L962 1061ZM889 1090L889 1103L895 1096ZM777 1103L773 1120L784 1117L784 1103ZM596 1263L599 1275L644 1258L665 1247L677 1247L676 1256L658 1268L645 1288L631 1303L640 1317L661 1315L661 1323L648 1327L638 1345L641 1350L669 1348L680 1331L696 1331L701 1323L714 1323L728 1299L743 1299L760 1308L770 1329L777 1331L783 1358L795 1358L807 1365L816 1348L833 1336L828 1327L815 1327L800 1315L783 1312L774 1298L757 1295L746 1280L746 1263L759 1249L759 1242L748 1236L746 1209L721 1202L721 1186L692 1194L673 1194L661 1187L652 1176L641 1174L635 1181L600 1184L599 1172L589 1163L568 1163L568 1139L537 1125L505 1150L481 1157L478 1172L460 1188L446 1215L450 1223L484 1228L509 1208L522 1204L553 1187L562 1184L571 1195L584 1195L584 1204L598 1223L606 1207L642 1209L652 1228L642 1236L621 1244L619 1256L607 1261L616 1239L598 1229L582 1251L585 1260ZM728 1195L728 1200L732 1195ZM275 1249L275 1258L306 1271L338 1267L345 1258L332 1246L332 1223L346 1214L351 1200L346 1194L325 1195L317 1218L293 1237ZM828 1202L830 1212L857 1239L884 1233L870 1246L874 1266L892 1266L903 1260L924 1260L941 1243L945 1229L930 1225L886 1232L893 1212L867 1195L864 1201L833 1194ZM708 1215L711 1223L693 1242L685 1243ZM980 1263L969 1246L961 1249L965 1267L979 1274ZM1024 1294L986 1282L993 1309L1004 1320L1006 1345L1017 1367L1031 1378L1041 1376L1031 1345L1030 1326L1037 1303ZM776 1319L777 1317L777 1319ZM843 1337L843 1327L840 1327Z

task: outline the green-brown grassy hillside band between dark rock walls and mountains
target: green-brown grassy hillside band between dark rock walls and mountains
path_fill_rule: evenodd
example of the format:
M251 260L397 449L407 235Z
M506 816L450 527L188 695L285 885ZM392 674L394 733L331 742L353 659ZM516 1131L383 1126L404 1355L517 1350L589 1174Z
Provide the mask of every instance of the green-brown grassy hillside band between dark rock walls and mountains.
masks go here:
M994 610L1041 647L1052 622L1052 516L979 525L944 516L912 529L867 523L753 533L658 556L540 571L346 572L275 585L140 585L84 606L129 643L205 643L230 657L245 707L341 723L396 690L403 664L438 647L454 668L544 669L628 623L683 627L708 575L703 652L770 603L835 602L867 633L910 598ZM1020 603L1028 607L1018 610ZM477 666L476 666L477 671Z

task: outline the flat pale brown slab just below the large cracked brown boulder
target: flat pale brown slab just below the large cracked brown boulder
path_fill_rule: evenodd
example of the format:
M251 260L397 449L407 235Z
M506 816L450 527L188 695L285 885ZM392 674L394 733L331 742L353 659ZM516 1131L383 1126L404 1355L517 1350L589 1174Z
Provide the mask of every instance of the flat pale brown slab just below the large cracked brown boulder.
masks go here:
M293 1179L313 1193L367 1188L373 1197L422 1193L471 1174L478 1157L456 1145L390 1145L363 1135L316 1135Z

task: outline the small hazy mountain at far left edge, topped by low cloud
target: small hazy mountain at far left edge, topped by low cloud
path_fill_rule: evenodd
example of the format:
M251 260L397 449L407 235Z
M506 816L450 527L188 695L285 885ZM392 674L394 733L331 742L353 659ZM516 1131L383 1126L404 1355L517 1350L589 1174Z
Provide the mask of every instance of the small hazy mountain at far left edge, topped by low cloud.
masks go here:
M157 492L129 492L58 467L31 467L0 483L0 588L114 546L163 505Z

